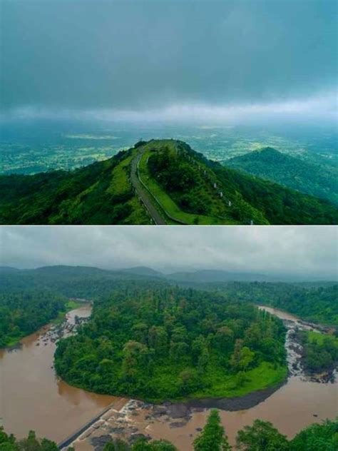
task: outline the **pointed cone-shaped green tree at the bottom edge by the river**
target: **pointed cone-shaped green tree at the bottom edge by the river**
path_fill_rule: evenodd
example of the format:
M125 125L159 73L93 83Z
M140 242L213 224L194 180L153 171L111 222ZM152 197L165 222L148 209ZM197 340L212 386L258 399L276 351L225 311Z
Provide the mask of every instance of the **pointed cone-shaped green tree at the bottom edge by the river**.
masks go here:
M194 440L195 451L230 451L218 410L212 409L203 431Z

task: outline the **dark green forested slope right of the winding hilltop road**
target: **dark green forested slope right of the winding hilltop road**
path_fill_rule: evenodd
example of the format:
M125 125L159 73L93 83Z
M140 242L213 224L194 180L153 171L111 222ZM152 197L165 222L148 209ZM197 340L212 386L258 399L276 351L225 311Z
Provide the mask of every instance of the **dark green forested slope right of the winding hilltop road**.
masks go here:
M152 145L149 141L148 146ZM338 220L337 208L329 201L225 168L181 141L163 141L148 159L148 168L180 208L190 213L225 216L243 224L334 224Z

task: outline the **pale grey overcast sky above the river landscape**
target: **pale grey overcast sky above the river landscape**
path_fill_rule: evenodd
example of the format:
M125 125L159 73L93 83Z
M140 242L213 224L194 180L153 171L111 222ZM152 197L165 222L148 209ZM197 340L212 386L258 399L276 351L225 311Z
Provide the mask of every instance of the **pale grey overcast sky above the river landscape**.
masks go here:
M222 269L337 277L338 230L323 226L2 226L0 263Z

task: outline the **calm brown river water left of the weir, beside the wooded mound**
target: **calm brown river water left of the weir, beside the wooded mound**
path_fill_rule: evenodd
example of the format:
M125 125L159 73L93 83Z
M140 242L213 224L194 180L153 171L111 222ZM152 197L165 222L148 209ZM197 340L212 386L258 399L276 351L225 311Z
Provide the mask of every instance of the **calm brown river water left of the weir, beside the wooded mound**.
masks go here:
M67 323L89 315L91 305L85 305L69 312ZM21 340L20 348L0 350L0 424L17 437L32 429L41 437L61 441L111 402L125 402L58 380L52 368L56 345L46 338L51 327Z

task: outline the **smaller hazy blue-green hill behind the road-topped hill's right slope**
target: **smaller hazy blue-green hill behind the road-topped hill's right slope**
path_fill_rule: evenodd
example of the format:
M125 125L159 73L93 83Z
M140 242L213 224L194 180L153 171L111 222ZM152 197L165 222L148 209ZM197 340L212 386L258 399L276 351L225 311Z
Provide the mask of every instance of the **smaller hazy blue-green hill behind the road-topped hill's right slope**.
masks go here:
M338 171L266 147L224 161L225 166L275 181L338 205Z

